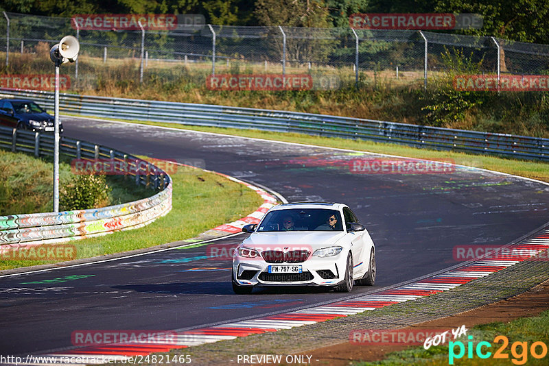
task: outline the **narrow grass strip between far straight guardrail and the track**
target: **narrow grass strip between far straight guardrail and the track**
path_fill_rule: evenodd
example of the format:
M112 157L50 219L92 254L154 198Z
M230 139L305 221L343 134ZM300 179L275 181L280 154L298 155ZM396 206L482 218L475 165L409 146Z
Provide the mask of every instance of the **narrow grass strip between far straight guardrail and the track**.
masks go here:
M97 117L104 119L101 117ZM109 119L105 119L109 120ZM119 121L117 119L110 119ZM128 121L125 121L128 122ZM406 156L410 158L420 158L429 160L453 161L456 164L466 165L468 167L476 167L481 169L489 169L500 171L513 175L520 175L526 178L532 178L549 182L548 164L544 162L535 162L530 160L515 160L511 158L498 158L495 156L484 156L465 154L453 151L438 151L432 149L417 149L404 145L375 143L364 140L351 140L346 138L329 138L320 136L309 136L305 134L284 133L284 132L267 132L260 130L240 130L236 128L222 127L202 127L193 125L178 125L176 123L161 123L150 121L129 121L131 123L139 123L142 125L156 125L162 127L172 127L181 130L192 130L202 132L214 132L218 134L229 134L233 136L244 136L251 138L263 138L270 141L285 141L288 143L302 143L308 145L317 145L324 147L334 147L338 149L351 149L357 151L371 152L377 154L388 154L397 156Z

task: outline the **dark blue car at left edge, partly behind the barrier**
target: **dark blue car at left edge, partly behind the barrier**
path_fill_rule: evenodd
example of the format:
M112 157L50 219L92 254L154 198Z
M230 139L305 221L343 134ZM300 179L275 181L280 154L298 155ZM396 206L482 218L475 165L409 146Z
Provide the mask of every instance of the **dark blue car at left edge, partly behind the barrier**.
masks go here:
M0 99L0 125L33 132L54 132L54 117L30 99ZM63 125L59 122L59 132Z

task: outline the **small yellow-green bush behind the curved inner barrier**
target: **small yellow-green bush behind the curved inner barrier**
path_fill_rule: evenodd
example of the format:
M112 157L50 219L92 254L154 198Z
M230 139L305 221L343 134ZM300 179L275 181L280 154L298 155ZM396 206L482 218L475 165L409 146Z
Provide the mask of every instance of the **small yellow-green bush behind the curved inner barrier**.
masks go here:
M60 190L62 210L86 210L108 205L111 188L104 175L77 175Z

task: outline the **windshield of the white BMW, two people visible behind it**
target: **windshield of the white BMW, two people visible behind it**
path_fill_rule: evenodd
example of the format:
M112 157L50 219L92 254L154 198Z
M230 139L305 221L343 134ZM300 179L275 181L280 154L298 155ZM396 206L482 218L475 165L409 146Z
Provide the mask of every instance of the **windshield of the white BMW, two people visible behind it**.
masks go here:
M343 231L338 210L292 208L268 212L257 232Z

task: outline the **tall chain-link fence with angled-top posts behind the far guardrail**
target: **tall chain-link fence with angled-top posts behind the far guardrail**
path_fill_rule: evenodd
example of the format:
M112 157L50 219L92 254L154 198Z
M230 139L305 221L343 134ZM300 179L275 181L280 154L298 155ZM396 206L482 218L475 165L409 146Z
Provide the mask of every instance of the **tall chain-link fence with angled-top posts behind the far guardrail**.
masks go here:
M549 45L484 36L350 27L77 28L69 18L5 13L0 19L0 42L5 45L1 73L51 74L49 48L69 34L80 40L80 55L74 64L64 65L62 73L71 77L69 90L80 92L109 82L169 83L182 78L204 86L211 74L250 73L333 75L340 81L337 86L379 80L426 86L455 66L452 58L454 63L474 64L479 73L549 71Z

